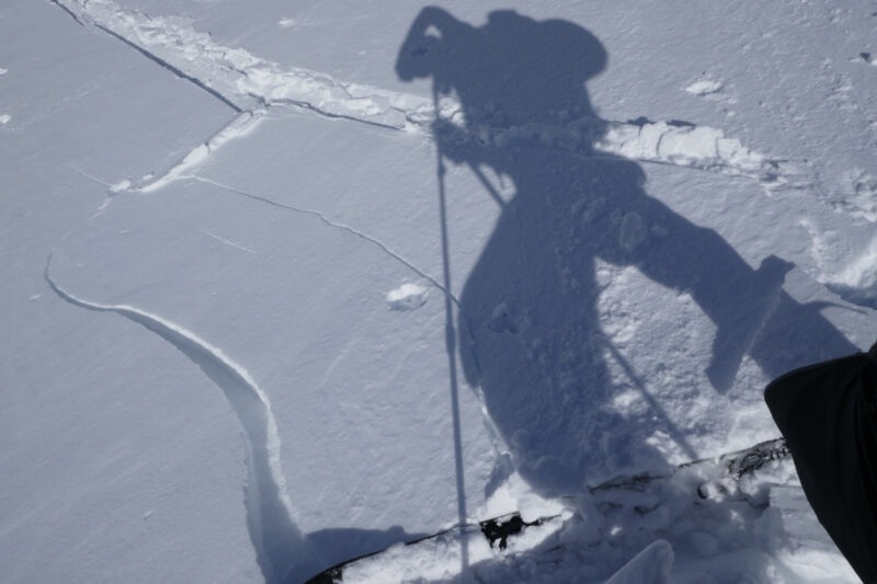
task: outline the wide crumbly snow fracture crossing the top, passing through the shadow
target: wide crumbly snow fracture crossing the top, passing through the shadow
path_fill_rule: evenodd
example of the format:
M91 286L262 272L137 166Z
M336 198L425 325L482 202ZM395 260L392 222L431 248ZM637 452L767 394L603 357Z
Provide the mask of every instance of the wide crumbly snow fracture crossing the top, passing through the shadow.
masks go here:
M436 113L463 122L463 108L443 99L440 112L422 96L345 82L326 73L280 65L242 48L221 46L196 31L186 19L149 16L112 0L53 0L77 22L89 23L137 48L148 58L187 79L239 112L267 107L299 107L318 115L430 135ZM515 112L502 112L515 116ZM566 112L556 112L558 119ZM497 147L535 146L591 154L593 146L641 162L665 163L721 174L745 176L770 191L800 187L810 181L786 161L750 150L721 129L667 122L605 122L580 118L535 124L526 116L516 125L468 128L470 136ZM485 118L489 119L489 116ZM595 128L600 131L595 134ZM190 167L212 151L198 146L186 157ZM160 188L180 172L141 186Z

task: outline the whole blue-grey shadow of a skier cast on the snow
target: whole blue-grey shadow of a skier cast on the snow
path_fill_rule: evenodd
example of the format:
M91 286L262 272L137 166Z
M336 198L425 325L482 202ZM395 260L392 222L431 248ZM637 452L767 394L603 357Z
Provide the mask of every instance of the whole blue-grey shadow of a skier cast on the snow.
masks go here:
M775 377L856 350L816 307L783 291L791 264L770 256L751 268L718 233L648 196L637 163L595 150L607 123L584 84L605 65L600 41L573 23L496 11L476 27L432 7L412 23L396 64L400 79L430 77L436 96L456 96L462 116L433 124L437 148L502 206L460 296L460 354L517 470L543 494L579 492L600 453L660 461L642 444L619 443L631 423L697 455L602 332L597 259L691 295L717 329L707 376L718 392L747 353ZM566 148L540 142L558 130ZM482 168L511 180L511 201L491 190ZM610 406L617 386L607 358L649 400L640 420Z

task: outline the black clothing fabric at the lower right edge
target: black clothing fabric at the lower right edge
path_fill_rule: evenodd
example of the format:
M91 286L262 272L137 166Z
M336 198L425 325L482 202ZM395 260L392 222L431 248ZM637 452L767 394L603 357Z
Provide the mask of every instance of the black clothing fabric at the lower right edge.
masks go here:
M877 344L790 371L764 399L810 506L866 584L877 584Z

